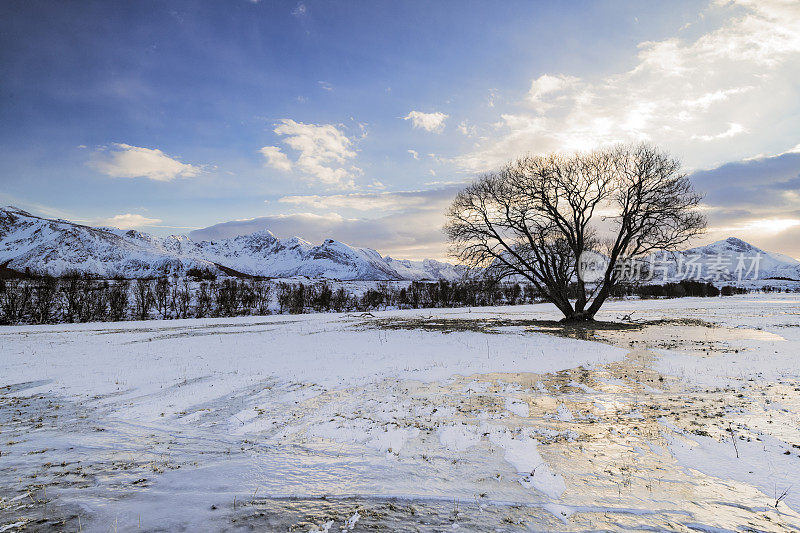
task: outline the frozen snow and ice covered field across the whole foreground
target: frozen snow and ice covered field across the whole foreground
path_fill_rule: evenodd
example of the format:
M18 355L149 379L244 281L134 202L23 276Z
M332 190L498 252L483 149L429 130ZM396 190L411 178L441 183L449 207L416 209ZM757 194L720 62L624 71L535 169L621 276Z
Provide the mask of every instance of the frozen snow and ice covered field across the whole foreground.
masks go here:
M0 329L0 531L800 529L800 297L622 317Z

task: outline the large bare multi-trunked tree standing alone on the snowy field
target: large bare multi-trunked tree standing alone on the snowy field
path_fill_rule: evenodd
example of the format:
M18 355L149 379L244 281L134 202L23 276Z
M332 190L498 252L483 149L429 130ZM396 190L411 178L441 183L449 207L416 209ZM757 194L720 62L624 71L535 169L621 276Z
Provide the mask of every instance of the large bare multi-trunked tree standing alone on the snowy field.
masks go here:
M680 162L650 145L528 156L459 192L445 231L461 263L493 279L525 278L565 320L593 320L621 261L705 230L700 200ZM580 270L589 253L606 260L591 283Z

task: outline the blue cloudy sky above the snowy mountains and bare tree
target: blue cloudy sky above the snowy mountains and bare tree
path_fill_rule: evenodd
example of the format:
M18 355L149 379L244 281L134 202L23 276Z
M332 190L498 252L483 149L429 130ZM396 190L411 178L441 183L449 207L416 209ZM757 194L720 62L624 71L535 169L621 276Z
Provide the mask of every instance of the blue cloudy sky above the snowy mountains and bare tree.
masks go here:
M525 153L648 140L705 241L800 258L800 3L0 3L0 204L445 258Z

